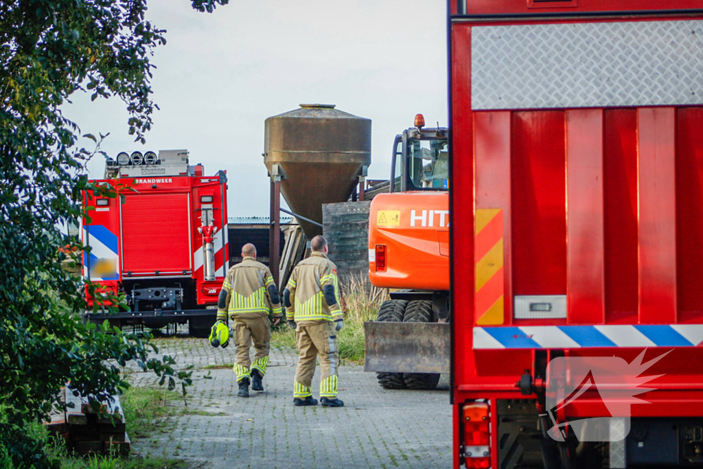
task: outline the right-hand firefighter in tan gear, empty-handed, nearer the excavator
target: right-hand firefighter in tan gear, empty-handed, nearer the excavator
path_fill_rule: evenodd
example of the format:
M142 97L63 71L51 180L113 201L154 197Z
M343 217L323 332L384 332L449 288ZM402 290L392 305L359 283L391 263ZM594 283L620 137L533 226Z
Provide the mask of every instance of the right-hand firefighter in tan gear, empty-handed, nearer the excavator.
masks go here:
M337 266L327 258L327 240L315 236L310 242L311 257L295 266L283 290L286 317L295 327L295 346L299 352L293 385L295 406L315 406L311 383L315 360L320 359L322 377L320 397L323 406L341 407L337 399L337 368L340 354L337 332L342 329Z

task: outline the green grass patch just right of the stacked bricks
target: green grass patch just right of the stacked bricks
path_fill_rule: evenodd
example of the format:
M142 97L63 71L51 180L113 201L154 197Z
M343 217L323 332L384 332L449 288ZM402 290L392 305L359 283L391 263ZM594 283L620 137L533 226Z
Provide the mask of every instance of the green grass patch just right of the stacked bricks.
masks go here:
M144 438L169 428L169 417L179 413L174 401L184 399L182 394L165 388L131 386L120 400L127 420L127 435Z

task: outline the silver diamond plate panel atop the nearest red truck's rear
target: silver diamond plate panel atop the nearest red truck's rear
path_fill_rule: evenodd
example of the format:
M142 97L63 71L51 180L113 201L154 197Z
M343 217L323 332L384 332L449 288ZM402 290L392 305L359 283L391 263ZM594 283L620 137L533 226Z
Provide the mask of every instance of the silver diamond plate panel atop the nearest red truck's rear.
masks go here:
M472 108L703 103L703 21L472 28Z

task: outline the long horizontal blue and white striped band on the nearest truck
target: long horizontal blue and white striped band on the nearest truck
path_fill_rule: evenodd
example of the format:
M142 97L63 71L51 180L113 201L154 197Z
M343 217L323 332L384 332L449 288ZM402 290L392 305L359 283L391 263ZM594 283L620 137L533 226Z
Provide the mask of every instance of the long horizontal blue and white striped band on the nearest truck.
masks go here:
M476 327L474 349L698 347L703 324Z

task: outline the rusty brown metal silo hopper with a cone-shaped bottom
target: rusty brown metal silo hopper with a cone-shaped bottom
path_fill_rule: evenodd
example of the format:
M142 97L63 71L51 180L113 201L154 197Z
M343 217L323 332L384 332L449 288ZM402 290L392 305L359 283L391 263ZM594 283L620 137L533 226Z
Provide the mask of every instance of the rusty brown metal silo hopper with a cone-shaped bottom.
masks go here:
M266 119L264 163L281 174L280 191L295 214L322 223L322 205L344 202L371 162L371 120L334 105L301 104ZM305 236L322 228L298 217Z

